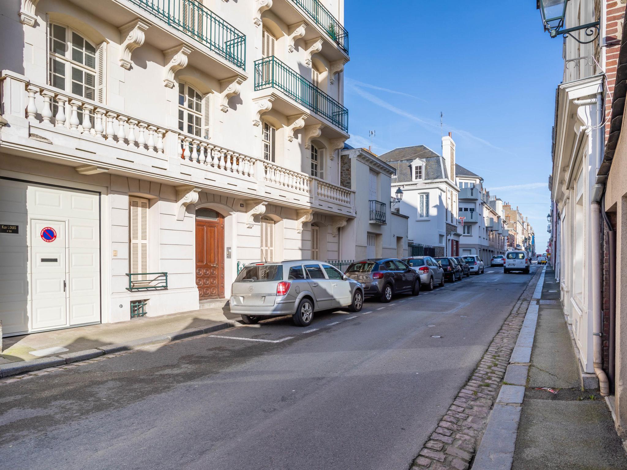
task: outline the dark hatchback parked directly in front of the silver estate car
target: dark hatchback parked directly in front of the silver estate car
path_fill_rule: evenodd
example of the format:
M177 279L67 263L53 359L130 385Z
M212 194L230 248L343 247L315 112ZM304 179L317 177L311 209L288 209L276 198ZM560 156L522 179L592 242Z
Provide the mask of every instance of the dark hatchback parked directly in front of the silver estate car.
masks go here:
M345 274L361 283L366 297L378 297L382 302L394 294L420 293L420 276L400 259L363 259L350 264Z

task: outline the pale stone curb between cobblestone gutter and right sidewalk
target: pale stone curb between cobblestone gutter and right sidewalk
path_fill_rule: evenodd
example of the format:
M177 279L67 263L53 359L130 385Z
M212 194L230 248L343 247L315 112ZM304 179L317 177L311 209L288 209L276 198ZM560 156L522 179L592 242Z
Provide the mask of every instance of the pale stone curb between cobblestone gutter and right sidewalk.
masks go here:
M507 372L505 372L503 379L508 382L508 377L511 377L515 380L515 385L501 386L496 403L488 416L488 423L481 444L477 449L477 455L472 466L474 470L511 470L514 463L514 449L538 318L539 306L534 301L539 300L542 296L545 273L546 266L542 269L540 279L535 285L534 295L529 307L527 307L525 320L522 323L522 328L520 328L519 337L510 356L510 364L507 366ZM523 371L525 372L524 383L521 384L521 372Z

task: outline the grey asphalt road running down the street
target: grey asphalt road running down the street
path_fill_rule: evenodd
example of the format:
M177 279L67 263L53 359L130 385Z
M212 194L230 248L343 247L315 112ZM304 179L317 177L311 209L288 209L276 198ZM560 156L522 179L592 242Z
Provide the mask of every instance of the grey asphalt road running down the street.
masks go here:
M535 269L1 385L0 468L407 469Z

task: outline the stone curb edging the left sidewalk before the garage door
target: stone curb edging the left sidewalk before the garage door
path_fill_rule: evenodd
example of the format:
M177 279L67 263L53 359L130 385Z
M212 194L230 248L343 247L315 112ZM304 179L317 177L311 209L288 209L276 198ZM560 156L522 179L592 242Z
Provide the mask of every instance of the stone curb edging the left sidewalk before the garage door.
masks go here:
M135 348L139 348L149 344L170 343L181 340L183 338L204 335L204 333L213 333L220 330L226 330L227 328L231 328L233 326L241 326L241 323L236 320L226 320L221 321L220 323L216 323L216 325L206 326L205 328L188 328L187 330L181 330L180 332L172 332L166 333L165 335L139 338L137 340L131 340L125 343L115 343L105 346L98 346L97 348L61 354L58 356L40 357L18 362L9 362L6 364L0 364L0 377L4 379L5 377L11 377L11 375L18 375L18 373L33 372L35 370L41 370L48 367L56 367L58 365L93 359L95 357L105 356L120 351L133 350Z

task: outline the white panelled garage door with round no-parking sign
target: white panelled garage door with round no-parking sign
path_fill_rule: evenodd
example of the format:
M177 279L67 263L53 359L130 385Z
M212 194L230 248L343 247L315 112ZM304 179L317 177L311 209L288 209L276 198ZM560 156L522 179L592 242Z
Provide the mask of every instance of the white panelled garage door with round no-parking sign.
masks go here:
M0 319L15 335L100 322L99 194L0 179Z

